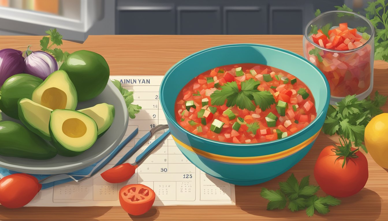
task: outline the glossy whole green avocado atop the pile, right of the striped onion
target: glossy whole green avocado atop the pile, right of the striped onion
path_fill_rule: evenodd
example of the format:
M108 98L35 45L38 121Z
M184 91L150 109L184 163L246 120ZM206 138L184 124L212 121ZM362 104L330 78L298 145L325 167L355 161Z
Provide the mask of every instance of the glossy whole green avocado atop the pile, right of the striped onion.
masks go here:
M92 51L71 53L59 70L68 73L78 101L88 101L104 91L109 80L109 66L101 55Z

